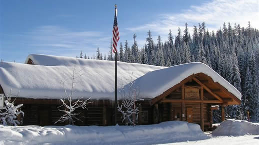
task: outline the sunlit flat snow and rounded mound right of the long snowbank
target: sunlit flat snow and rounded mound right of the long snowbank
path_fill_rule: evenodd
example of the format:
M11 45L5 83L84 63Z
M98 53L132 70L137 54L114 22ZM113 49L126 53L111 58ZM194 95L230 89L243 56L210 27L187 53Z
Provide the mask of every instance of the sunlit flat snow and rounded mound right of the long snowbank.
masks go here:
M259 124L228 119L222 122L208 140L187 141L159 145L259 145Z

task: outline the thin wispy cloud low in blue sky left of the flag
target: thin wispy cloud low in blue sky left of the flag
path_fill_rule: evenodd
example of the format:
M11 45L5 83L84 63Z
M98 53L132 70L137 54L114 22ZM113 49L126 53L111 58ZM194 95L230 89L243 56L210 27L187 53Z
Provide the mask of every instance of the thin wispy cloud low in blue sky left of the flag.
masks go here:
M80 50L92 55L96 47L108 47L110 37L98 31L72 31L59 26L40 26L25 34L30 46L36 47L38 53L76 56ZM106 51L106 50L104 50ZM69 55L70 54L70 55Z

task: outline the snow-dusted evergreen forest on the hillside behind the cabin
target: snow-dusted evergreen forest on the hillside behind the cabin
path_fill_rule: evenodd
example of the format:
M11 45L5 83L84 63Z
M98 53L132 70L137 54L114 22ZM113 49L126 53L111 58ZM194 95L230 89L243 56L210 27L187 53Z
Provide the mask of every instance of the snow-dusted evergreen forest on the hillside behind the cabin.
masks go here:
M111 43L109 53L102 55L99 48L96 55L87 57L82 51L79 58L114 60ZM242 94L240 105L225 108L225 118L259 121L259 31L239 24L223 23L217 31L208 31L205 22L194 25L192 34L185 23L183 32L178 28L173 37L171 30L167 40L160 35L153 38L148 30L144 46L137 45L136 34L133 44L127 40L120 42L117 60L130 63L142 63L157 66L174 66L189 62L202 62L211 67L231 83ZM141 90L140 90L141 91ZM215 123L220 122L220 110L213 112Z

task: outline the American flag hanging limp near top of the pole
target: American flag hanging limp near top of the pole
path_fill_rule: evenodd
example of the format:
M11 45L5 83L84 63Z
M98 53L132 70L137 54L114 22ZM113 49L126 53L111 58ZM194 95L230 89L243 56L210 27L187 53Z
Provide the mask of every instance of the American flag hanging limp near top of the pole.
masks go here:
M113 30L112 30L112 52L117 52L117 42L119 40L119 33L118 33L118 23L117 23L117 8L115 8L115 16L113 22Z

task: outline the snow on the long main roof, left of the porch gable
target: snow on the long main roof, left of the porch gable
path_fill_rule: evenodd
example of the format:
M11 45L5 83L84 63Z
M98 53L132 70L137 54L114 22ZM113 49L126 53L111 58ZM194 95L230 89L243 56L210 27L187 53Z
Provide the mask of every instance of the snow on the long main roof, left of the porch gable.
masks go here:
M64 87L71 88L71 73L82 74L74 87L73 97L91 97L91 99L114 98L114 61L90 60L50 55L29 55L34 64L1 62L0 85L5 95L12 89L12 96L24 98L59 99L64 97L62 80L67 80ZM37 59L34 59L37 58ZM42 66L48 65L48 66ZM117 63L117 86L164 67Z

